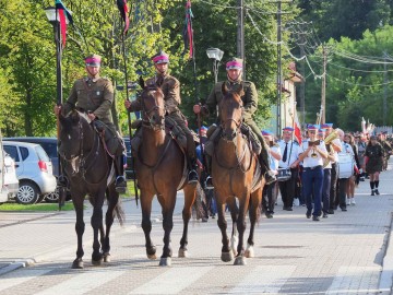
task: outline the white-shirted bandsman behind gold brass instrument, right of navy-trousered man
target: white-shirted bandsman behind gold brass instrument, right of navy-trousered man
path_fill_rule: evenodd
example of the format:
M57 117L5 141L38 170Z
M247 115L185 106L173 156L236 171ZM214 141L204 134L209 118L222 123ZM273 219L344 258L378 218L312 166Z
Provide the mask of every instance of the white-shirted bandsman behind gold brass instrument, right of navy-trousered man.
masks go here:
M327 138L333 130L333 123L323 123L321 126L325 130L325 138ZM337 209L338 198L337 198L337 180L338 180L338 155L342 151L342 144L340 139L333 140L330 144L326 144L326 150L329 153L334 155L334 161L331 162L331 190L330 190L330 201L329 201L329 214L334 214L334 210Z

